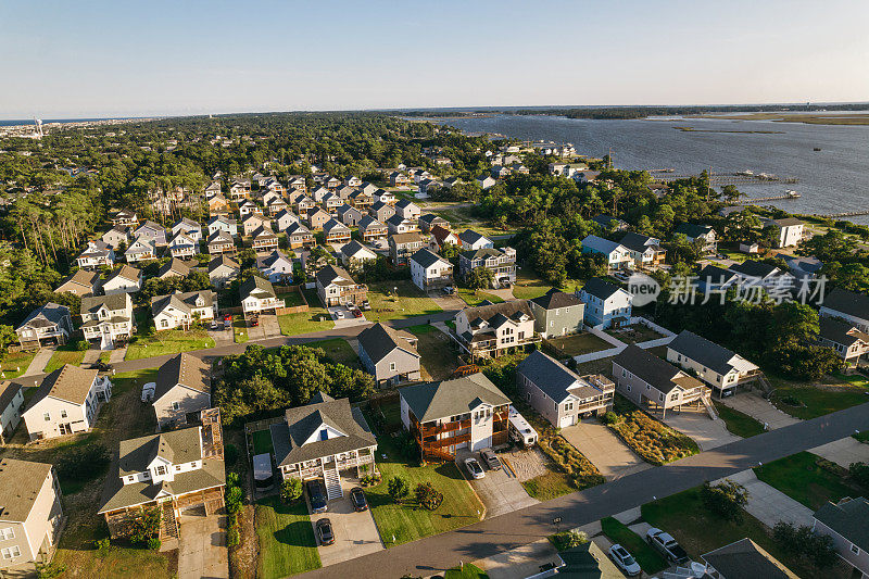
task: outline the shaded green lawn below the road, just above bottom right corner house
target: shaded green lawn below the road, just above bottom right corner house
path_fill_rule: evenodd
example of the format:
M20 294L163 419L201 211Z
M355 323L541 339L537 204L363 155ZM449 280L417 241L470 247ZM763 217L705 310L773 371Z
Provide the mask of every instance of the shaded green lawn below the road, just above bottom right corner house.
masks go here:
M832 465L824 468L823 461L810 452L801 452L754 468L757 478L780 490L794 501L816 511L828 501L839 502L844 496L857 496L860 490L848 484L844 468Z

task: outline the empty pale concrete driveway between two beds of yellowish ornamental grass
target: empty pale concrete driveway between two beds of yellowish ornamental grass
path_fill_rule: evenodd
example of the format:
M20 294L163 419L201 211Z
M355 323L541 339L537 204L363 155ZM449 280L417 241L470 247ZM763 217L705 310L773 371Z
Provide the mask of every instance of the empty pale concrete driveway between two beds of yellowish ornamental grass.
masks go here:
M578 425L562 428L562 436L584 454L606 480L652 468L652 465L640 458L612 430L595 419L585 419Z

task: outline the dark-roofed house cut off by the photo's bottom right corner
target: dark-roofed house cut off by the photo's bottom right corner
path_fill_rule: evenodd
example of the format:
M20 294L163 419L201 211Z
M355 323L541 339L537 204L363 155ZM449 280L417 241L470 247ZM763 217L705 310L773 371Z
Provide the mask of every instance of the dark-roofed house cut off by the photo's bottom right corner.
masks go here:
M827 503L815 512L811 531L833 540L836 553L854 567L855 575L869 575L869 501L864 496ZM855 575L852 575L854 577Z

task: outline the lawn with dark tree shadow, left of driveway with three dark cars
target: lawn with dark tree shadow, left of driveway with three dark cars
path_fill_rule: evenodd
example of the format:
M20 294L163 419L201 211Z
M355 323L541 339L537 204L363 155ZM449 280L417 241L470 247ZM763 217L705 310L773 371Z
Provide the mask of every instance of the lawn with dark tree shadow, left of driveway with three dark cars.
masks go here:
M260 556L256 577L278 579L320 566L317 540L304 501L287 506L277 496L256 503Z

